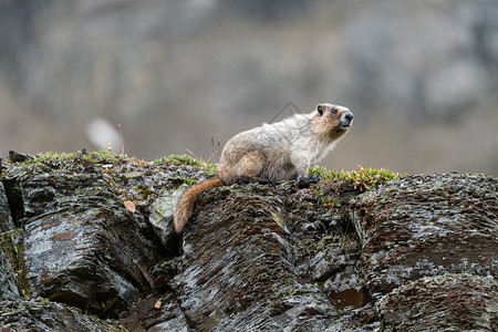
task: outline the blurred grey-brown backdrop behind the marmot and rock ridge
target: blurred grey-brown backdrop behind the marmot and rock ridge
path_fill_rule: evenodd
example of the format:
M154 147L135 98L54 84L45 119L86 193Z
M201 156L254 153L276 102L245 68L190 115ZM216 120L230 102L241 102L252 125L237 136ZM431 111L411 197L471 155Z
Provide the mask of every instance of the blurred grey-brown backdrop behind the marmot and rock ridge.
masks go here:
M0 0L1 157L121 153L121 124L217 162L321 102L355 116L322 166L498 175L498 1Z

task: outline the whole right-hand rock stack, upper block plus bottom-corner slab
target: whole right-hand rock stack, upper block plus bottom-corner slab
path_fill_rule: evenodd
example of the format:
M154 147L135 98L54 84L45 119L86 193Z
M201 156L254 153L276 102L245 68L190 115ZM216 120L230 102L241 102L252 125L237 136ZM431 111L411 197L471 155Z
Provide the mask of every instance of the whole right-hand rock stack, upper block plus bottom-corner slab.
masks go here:
M498 181L411 176L353 204L365 286L386 326L498 328Z

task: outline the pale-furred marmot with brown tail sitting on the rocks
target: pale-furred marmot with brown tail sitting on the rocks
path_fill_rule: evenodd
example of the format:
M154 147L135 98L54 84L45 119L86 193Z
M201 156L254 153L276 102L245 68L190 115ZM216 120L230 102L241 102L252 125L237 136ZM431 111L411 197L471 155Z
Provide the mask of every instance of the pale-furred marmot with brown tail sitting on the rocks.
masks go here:
M216 178L190 187L179 198L174 222L180 232L193 215L197 197L214 187L247 180L269 183L309 178L309 168L321 160L347 133L353 113L346 107L320 104L309 114L295 114L273 124L242 132L225 145Z

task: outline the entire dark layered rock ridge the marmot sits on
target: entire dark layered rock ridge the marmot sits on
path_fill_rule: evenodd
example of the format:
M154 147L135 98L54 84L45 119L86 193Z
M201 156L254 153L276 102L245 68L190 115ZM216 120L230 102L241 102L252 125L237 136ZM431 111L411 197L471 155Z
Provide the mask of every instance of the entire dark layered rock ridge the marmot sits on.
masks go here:
M214 188L179 237L175 197L204 175L106 154L10 164L0 326L498 328L496 178L408 176L367 193L344 179Z

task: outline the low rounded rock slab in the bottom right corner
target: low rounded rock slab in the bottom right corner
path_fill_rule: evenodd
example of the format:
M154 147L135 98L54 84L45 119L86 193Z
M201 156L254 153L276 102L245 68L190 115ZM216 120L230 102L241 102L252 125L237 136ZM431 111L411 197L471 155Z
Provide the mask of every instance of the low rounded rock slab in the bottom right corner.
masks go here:
M497 331L498 282L492 277L422 278L383 297L384 331Z

